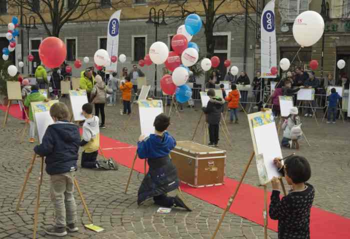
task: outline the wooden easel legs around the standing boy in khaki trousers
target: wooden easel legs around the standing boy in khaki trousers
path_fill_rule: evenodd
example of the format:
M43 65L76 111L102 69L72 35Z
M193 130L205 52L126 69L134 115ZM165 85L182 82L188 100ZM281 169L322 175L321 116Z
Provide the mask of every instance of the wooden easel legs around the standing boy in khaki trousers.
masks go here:
M36 154L34 153L33 155L33 158L31 159L31 162L30 162L30 165L27 169L27 172L26 172L26 175L25 175L25 178L24 178L24 183L23 183L23 186L22 186L22 189L19 193L19 198L18 198L18 202L17 202L17 205L16 205L16 212L19 210L19 206L20 206L20 202L23 200L23 195L24 195L24 190L25 190L25 186L26 186L26 183L28 181L28 178L29 178L29 174L31 173L32 171L32 168L33 168L33 165L34 165L34 162L35 162L35 159L36 159ZM37 191L36 191L36 205L35 205L35 212L34 212L34 225L33 225L33 239L36 238L36 229L37 229L37 216L38 216L38 211L39 211L39 206L40 206L40 188L41 188L41 184L42 184L42 176L43 176L43 162L44 162L44 158L41 157L41 160L40 160L40 174L39 174L39 179L38 179L38 182L37 182ZM90 219L91 223L92 223L92 217L91 217L91 214L87 208L87 205L85 203L85 200L84 200L84 197L82 196L82 193L80 191L80 187L78 185L78 182L77 180L75 179L74 177L74 185L76 187L76 190L78 191L79 193L79 196L80 196L80 199L82 201L82 204L84 206L84 209L86 211L86 214L88 216L88 218Z

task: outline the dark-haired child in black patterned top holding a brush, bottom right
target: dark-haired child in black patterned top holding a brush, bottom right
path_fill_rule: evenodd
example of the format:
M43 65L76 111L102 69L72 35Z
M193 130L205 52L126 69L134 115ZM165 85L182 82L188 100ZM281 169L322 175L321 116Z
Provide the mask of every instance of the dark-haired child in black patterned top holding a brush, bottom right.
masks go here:
M310 210L314 197L314 188L306 181L311 176L310 164L302 156L291 156L285 159L284 165L279 158L274 164L291 185L288 195L279 197L279 180L273 177L269 215L278 220L278 239L309 239Z

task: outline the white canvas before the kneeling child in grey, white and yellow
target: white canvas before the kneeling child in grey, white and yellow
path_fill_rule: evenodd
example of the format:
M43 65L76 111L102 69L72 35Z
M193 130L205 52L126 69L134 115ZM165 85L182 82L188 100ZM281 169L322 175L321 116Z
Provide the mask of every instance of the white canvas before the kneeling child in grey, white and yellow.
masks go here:
M82 105L87 103L86 90L69 90L69 99L74 121L82 121L86 118L82 115Z

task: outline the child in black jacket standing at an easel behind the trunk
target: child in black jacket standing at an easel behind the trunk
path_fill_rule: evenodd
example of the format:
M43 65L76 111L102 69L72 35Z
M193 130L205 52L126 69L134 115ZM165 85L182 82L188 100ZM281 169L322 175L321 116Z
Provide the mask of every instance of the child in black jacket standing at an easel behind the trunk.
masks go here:
M210 97L206 107L203 107L204 113L207 115L208 130L209 130L209 146L218 146L218 130L223 111L224 99L215 96L215 90L209 89L207 95Z

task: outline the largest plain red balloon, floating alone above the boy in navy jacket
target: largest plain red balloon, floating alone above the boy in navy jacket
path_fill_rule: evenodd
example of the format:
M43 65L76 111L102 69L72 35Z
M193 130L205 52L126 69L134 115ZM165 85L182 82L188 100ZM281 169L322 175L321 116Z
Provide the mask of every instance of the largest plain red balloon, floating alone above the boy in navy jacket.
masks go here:
M59 67L65 60L66 55L65 44L57 37L46 37L39 45L40 60L48 68Z

